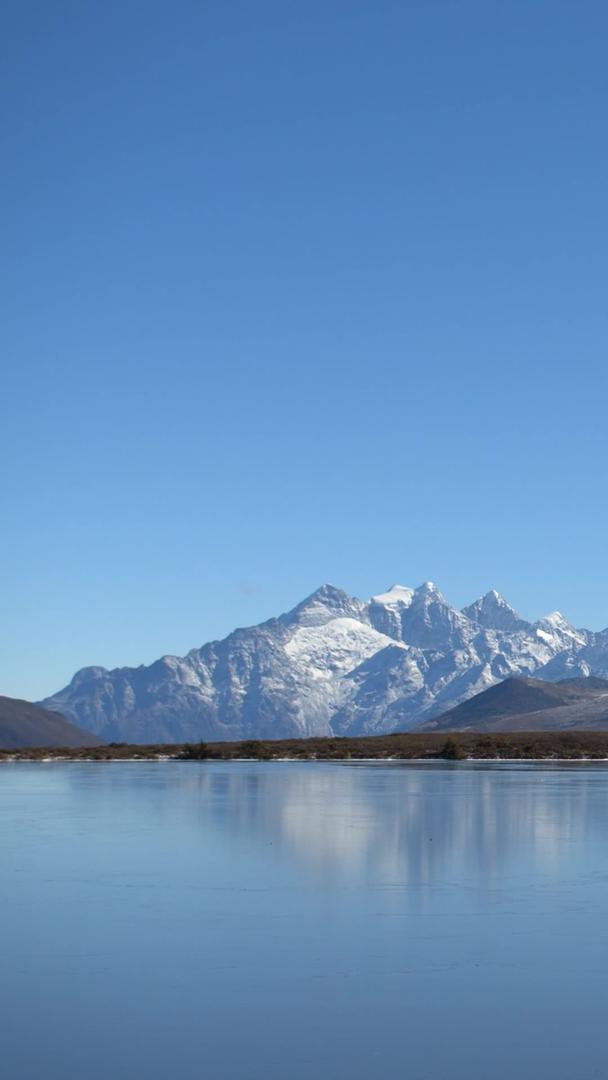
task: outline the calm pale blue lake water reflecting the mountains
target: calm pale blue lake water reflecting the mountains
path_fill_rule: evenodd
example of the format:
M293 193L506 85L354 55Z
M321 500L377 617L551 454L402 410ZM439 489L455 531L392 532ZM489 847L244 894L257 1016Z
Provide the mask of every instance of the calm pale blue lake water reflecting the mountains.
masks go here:
M608 1074L604 766L0 767L3 1080Z

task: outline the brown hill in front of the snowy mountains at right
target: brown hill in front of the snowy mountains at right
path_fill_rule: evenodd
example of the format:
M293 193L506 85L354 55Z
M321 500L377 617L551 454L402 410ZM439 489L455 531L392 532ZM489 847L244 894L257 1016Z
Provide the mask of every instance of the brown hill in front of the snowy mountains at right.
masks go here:
M608 730L608 680L508 678L428 720L421 731Z

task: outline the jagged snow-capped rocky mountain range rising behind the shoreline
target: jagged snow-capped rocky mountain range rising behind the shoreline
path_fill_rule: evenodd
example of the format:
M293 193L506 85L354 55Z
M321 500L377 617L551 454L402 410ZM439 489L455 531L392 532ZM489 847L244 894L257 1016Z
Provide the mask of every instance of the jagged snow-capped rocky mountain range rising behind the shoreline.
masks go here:
M462 611L432 582L363 602L323 585L292 611L149 666L84 667L42 702L104 739L406 730L510 675L608 675L608 631L526 622L496 592Z

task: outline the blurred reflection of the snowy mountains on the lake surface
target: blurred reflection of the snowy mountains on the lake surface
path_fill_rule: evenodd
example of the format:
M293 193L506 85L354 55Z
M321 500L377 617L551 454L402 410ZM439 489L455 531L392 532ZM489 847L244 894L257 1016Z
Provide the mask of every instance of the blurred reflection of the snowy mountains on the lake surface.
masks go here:
M278 845L336 880L431 883L463 863L484 877L523 854L551 870L564 845L605 829L604 767L470 765L201 767L183 775L201 826ZM576 773L576 783L571 782ZM602 798L590 795L602 792Z

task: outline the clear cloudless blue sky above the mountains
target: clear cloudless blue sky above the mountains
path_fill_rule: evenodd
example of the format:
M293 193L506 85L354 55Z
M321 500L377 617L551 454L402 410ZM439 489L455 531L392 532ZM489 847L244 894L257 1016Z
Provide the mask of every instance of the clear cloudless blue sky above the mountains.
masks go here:
M608 6L4 0L0 692L324 581L608 624Z

